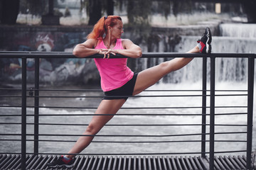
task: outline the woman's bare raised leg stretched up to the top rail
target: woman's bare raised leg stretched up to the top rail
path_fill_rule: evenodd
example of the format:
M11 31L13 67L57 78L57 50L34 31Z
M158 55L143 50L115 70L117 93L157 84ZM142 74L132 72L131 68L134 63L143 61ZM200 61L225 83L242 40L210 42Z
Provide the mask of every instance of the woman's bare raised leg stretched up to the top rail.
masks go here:
M198 46L196 46L186 53L198 53L198 52L200 52L200 50ZM174 60L162 62L159 65L156 65L149 69L145 69L142 72L139 72L136 80L136 84L134 86L133 95L139 94L145 89L149 88L149 86L156 84L156 82L159 81L166 74L169 74L170 72L174 72L186 66L186 64L191 62L191 60L193 60L193 58L175 58Z

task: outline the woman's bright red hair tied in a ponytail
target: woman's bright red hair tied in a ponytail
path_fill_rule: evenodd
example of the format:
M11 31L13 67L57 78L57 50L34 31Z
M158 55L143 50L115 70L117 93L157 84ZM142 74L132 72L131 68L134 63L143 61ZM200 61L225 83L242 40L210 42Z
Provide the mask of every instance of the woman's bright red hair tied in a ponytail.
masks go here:
M101 39L103 35L107 33L108 26L115 26L117 20L122 21L122 18L119 16L103 16L93 27L92 32L87 35L87 39Z

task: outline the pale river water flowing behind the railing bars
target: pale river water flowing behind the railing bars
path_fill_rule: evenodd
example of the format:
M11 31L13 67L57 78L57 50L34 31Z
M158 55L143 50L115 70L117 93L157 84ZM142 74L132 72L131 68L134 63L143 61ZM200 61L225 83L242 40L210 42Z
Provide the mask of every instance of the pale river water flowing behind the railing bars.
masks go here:
M68 87L70 88L70 87ZM72 89L72 88L71 88ZM78 89L78 87L76 87ZM201 89L200 83L183 83L183 84L156 84L150 88L151 90L199 90ZM235 89L245 90L246 84L225 82L216 84L216 89ZM224 94L234 94L234 92L223 92ZM41 106L72 106L72 107L97 107L100 103L100 98L84 98L84 96L102 96L101 92L70 92L70 91L47 91L41 92L42 96L76 96L75 98L41 98ZM163 97L163 98L148 98L142 96L151 95L182 95L182 94L195 94L200 95L199 92L159 92L159 91L144 91L140 97L129 98L123 108L137 108L137 107L200 107L201 97ZM236 92L235 94L244 94ZM80 96L80 97L79 97ZM1 105L16 106L21 101L19 99L4 99ZM209 106L209 98L207 99ZM28 99L28 105L33 102ZM247 99L245 96L222 96L216 97L215 106L246 106ZM92 109L53 109L53 108L40 108L40 115L53 114L56 116L41 116L40 123L71 123L80 125L41 125L39 132L41 134L73 134L80 135L85 131L86 124L90 122L95 108ZM215 113L246 113L246 108L216 108ZM20 108L0 108L1 115L21 114ZM121 109L117 115L110 120L110 122L103 128L98 135L179 135L179 134L194 134L201 133L200 125L186 125L178 126L179 124L201 124L201 116L193 115L200 114L200 108L164 108L164 109ZM207 113L210 113L209 109ZM33 109L27 109L28 115L33 115ZM58 116L58 114L71 114L75 116ZM84 115L89 114L89 115ZM122 115L128 114L128 115ZM129 115L131 114L131 115ZM139 115L133 115L139 114ZM156 115L140 115L140 114L156 114ZM159 114L159 115L158 115ZM174 114L174 115L162 115ZM188 115L176 115L188 114ZM254 115L255 116L255 115ZM255 120L255 119L254 119ZM20 123L19 117L1 117L1 123ZM28 123L33 123L33 117L28 116ZM209 118L207 118L209 123ZM245 115L218 115L215 118L216 124L225 125L246 125L247 117ZM84 125L85 124L85 125ZM129 126L129 125L145 125L153 124L155 126ZM171 126L159 126L163 124L171 124ZM114 125L114 126L111 126ZM215 132L245 132L246 127L235 126L216 126ZM207 128L207 132L209 129ZM255 141L255 128L253 129ZM1 125L0 133L21 133L21 125ZM27 133L33 134L33 125L27 126ZM21 139L20 137L9 136L1 137L2 139ZM28 136L29 140L33 137ZM75 141L78 137L58 137L41 136L40 140L71 140ZM209 137L207 137L209 140ZM120 153L178 153L178 152L200 152L201 142L161 142L161 143L126 143L131 141L175 141L175 140L201 140L200 135L186 136L186 137L95 137L93 142L84 152L86 154L120 154ZM233 135L215 135L215 140L246 140L245 134ZM97 141L122 141L124 143L100 143ZM43 153L65 153L72 147L74 142L40 142L39 152ZM21 142L7 142L1 141L1 152L20 152ZM207 145L208 148L208 145ZM253 142L253 149L256 148ZM233 151L244 150L246 145L244 142L216 142L215 151ZM33 142L27 142L27 152L33 152ZM235 153L241 154L241 153Z

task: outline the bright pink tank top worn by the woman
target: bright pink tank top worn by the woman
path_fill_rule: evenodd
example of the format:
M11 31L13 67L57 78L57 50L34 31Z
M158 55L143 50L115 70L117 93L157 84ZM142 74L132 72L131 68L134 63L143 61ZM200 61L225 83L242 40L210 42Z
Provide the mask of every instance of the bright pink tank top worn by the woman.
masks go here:
M97 44L95 49L107 49L103 40ZM115 50L123 50L122 39L117 39ZM100 72L102 91L117 89L132 79L134 72L127 67L127 58L95 58L95 64Z

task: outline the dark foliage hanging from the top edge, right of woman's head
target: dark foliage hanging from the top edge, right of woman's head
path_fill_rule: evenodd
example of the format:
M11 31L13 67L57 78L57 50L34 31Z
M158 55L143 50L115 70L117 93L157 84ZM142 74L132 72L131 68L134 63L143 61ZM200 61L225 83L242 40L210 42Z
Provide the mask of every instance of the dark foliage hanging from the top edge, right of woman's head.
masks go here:
M120 4L125 0L120 1ZM150 16L152 11L162 13L166 18L171 14L191 13L191 0L126 0L128 27L137 39L147 40L151 32ZM154 13L153 13L154 14Z

